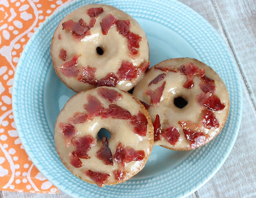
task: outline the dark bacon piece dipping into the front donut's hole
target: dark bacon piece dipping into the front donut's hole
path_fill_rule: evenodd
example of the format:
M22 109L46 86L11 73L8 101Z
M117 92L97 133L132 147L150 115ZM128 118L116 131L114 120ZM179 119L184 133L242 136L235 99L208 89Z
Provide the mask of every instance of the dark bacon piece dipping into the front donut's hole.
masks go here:
M114 165L112 159L112 153L110 148L108 147L108 139L107 137L102 138L102 147L97 151L96 156L98 159L102 160L106 165Z

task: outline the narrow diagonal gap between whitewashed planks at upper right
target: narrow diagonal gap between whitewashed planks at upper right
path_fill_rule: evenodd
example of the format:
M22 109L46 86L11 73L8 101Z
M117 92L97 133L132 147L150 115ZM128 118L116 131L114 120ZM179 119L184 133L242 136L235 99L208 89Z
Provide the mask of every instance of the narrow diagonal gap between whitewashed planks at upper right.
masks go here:
M217 15L217 17L218 17L218 21L220 22L220 24L221 24L221 26L222 26L223 33L224 33L225 37L227 38L228 45L229 45L229 47L230 47L230 49L231 49L231 51L232 51L232 53L233 53L233 55L234 55L234 58L235 58L235 60L236 60L237 66L238 66L238 69L239 69L239 71L240 71L240 73L241 73L241 75L242 75L243 82L244 82L245 87L246 87L246 90L247 90L247 92L248 92L248 94L249 94L249 96L250 96L250 101L251 101L252 104L253 104L254 111L256 112L256 99L254 98L252 89L250 88L250 85L249 85L249 83L248 83L248 81L247 81L247 79L246 79L246 77L245 77L245 73L244 73L244 71L243 71L243 68L242 68L242 66L241 66L241 63L240 63L240 61L238 60L238 56L237 56L237 54L236 54L236 52L235 52L235 50L234 50L234 46L233 46L233 44L232 44L232 42L231 42L231 37L230 37L230 35L228 34L228 31L227 31L227 29L226 29L225 26L224 26L224 22L223 22L223 18L222 18L222 16L221 16L220 9L218 9L217 3L216 3L214 0L211 0L211 2L212 2L212 5L213 5L214 10L215 10L215 12L216 12L216 15Z

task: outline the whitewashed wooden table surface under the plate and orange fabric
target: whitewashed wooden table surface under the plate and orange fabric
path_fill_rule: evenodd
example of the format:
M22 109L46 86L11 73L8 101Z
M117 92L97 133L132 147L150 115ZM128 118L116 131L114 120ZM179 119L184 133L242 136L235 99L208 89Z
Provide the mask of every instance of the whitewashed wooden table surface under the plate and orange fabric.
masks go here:
M181 0L209 21L231 48L243 83L243 116L222 168L187 198L256 197L256 1ZM0 191L1 198L69 198L58 194Z

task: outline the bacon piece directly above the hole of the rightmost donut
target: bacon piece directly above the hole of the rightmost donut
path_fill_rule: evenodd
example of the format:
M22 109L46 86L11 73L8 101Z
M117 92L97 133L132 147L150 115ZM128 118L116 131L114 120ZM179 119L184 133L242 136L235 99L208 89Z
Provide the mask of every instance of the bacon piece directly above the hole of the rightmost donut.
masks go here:
M204 75L204 70L201 70L199 67L195 66L192 62L188 65L184 64L180 66L180 73L187 76L187 81L183 85L184 88L191 89L194 86L193 77L195 75Z

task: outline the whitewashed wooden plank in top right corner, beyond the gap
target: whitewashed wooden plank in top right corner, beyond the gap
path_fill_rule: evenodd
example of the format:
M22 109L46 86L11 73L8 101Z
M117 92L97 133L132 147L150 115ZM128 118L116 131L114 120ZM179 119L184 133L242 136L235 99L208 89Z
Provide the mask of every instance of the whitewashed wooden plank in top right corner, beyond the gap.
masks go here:
M213 0L213 5L256 110L255 0Z

